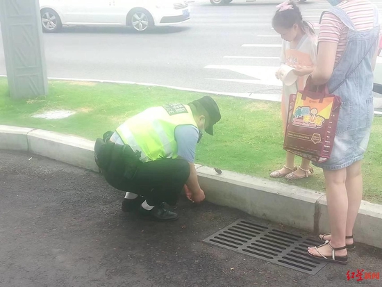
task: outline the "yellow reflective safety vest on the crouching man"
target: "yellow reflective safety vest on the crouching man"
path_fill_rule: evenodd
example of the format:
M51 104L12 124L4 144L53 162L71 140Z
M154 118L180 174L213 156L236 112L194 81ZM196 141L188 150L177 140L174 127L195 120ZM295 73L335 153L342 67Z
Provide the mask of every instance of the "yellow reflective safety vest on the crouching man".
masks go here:
M141 152L142 162L156 161L178 156L175 128L185 124L197 127L190 106L167 104L144 110L126 120L116 131L125 145Z

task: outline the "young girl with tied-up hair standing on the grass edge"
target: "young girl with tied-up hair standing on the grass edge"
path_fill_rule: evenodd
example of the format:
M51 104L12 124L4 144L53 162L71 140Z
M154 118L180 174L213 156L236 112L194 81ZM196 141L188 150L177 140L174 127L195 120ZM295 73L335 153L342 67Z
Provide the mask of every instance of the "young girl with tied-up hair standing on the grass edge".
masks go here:
M272 19L274 31L283 38L283 51L281 64L294 67L294 74L298 76L297 81L288 86L283 85L281 99L281 115L283 117L284 131L288 122L289 96L296 94L297 90L304 90L309 74L313 72L317 60L317 38L315 31L302 18L299 8L293 1L285 1L277 6L278 10ZM279 72L276 73L279 79ZM270 174L271 177L286 179L303 179L313 173L309 166L310 161L303 158L301 165L294 167L294 154L287 153L286 163L281 170Z

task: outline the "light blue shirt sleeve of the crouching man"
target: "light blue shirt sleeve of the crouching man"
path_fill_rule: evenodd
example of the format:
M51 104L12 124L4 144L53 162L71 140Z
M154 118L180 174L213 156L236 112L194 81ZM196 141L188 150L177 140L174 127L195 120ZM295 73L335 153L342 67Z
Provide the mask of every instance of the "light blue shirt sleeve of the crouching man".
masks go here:
M191 124L176 126L175 140L178 143L178 156L189 163L194 163L198 139L199 129L196 126Z

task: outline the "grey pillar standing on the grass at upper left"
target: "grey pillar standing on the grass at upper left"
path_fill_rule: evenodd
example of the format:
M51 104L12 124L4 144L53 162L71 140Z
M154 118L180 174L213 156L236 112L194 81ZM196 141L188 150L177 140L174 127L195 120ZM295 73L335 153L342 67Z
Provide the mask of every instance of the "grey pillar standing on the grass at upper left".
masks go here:
M0 0L0 22L10 96L47 95L39 1Z

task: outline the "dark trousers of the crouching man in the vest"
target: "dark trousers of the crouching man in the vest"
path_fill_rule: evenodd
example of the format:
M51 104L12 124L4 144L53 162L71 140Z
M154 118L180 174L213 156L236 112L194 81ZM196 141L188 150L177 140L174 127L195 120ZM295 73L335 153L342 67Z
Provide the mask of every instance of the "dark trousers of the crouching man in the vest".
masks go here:
M162 202L175 205L190 177L190 165L183 159L164 158L141 163L133 179L116 177L105 171L103 174L111 186L138 194L151 206Z

